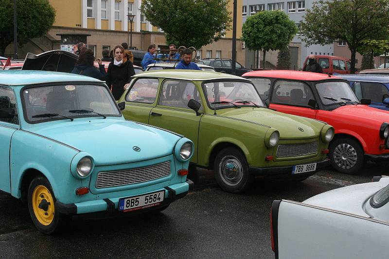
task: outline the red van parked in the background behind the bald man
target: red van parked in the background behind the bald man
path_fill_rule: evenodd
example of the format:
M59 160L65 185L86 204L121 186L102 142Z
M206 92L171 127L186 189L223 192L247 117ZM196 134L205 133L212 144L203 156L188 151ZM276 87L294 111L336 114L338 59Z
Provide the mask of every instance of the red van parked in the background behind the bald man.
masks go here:
M350 74L351 63L350 60L344 57L327 56L327 55L315 55L316 62L323 69L323 73L338 73L338 74ZM305 58L304 66L307 65L308 57Z

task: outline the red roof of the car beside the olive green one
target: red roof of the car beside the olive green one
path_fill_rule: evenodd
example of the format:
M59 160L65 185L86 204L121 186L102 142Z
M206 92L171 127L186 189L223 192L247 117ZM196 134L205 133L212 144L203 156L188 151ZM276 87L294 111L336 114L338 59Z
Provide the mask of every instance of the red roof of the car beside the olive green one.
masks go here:
M243 74L244 77L271 77L271 78L283 78L294 79L303 81L319 81L327 79L340 79L336 76L329 76L328 74L294 71L294 70L257 70L250 71Z

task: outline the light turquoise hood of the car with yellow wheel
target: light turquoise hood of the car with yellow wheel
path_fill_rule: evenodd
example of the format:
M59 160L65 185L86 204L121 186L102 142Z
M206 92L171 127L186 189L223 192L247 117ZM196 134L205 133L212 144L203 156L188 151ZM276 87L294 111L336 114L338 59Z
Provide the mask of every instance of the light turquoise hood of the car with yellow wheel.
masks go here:
M122 164L171 155L181 138L133 121L109 118L39 124L30 131L88 153L96 165ZM134 151L135 146L141 151Z

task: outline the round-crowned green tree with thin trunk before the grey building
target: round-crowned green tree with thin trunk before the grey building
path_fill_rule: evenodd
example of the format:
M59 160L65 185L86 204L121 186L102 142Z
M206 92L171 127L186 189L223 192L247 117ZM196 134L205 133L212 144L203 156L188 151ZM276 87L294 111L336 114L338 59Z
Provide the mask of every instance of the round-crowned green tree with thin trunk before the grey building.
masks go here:
M295 22L283 11L262 11L247 18L242 27L242 40L253 51L266 52L285 49L297 33Z

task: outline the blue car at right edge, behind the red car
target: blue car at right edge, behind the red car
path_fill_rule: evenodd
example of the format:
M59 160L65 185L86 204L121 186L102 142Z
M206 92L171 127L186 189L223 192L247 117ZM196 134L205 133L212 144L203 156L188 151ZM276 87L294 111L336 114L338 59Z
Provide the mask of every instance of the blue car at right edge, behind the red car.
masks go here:
M371 100L371 107L389 111L389 74L339 74L340 78L349 81L356 97Z

